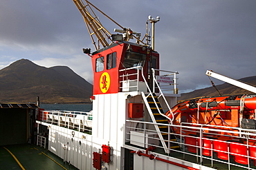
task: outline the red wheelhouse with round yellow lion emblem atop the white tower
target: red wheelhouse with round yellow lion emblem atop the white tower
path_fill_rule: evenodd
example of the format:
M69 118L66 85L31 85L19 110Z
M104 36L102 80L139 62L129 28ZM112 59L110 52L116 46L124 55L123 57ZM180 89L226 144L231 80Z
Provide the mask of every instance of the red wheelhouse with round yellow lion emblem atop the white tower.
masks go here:
M122 92L122 82L127 80L125 75L134 74L137 67L150 84L152 68L159 69L159 54L144 45L118 41L109 47L93 52L93 94L113 94ZM129 76L133 78L133 76ZM143 81L143 78L138 78Z

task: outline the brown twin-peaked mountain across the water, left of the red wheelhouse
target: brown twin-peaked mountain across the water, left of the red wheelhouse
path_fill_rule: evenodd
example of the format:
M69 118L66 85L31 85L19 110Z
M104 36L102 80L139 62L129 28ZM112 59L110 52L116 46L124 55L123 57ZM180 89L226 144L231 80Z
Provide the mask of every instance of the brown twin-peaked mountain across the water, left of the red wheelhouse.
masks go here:
M21 59L0 70L0 103L86 103L93 85L69 67L42 67Z

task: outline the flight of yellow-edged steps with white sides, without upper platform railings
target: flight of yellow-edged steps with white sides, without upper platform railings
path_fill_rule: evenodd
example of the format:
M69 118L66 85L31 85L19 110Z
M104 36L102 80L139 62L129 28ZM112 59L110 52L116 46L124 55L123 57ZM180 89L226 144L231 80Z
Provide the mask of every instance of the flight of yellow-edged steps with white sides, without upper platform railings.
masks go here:
M165 113L159 103L158 97L156 94L149 93L147 96L142 92L144 103L149 111L149 116L152 119L153 123L157 123L154 125L158 137L161 140L161 144L165 149L165 153L170 153L170 148L176 149L179 145L174 145L174 143L170 142L171 140L176 140L174 134L172 134L172 129L165 124L169 124L168 117L165 116Z

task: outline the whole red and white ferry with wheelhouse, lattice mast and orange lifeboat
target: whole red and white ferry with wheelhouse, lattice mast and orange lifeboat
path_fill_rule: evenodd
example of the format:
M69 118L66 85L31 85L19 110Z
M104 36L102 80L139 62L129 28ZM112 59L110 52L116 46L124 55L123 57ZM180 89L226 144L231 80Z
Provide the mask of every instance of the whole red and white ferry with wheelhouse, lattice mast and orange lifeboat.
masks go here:
M251 126L255 96L200 98L176 105L179 72L160 69L154 39L149 45L147 34L143 43L139 33L120 25L116 31L121 34L109 34L91 12L98 8L89 1L73 1L95 45L95 52L84 49L93 66L93 110L39 109L37 145L77 169L256 168ZM149 16L152 31L159 19ZM249 123L241 127L244 121Z

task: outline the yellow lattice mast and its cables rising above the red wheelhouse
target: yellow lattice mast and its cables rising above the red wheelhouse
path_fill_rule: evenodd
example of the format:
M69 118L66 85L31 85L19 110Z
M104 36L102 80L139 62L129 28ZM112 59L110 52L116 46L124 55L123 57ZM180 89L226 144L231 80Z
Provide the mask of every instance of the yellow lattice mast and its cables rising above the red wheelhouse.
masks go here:
M84 1L84 2L83 2ZM100 20L95 15L95 12L93 9L98 10L101 14L103 14L105 17L107 17L109 20L111 20L113 23L118 25L121 29L116 29L118 32L123 33L122 34L122 40L129 41L129 39L136 38L138 42L143 43L143 41L140 41L139 37L140 34L131 31L130 29L122 27L120 24L118 24L116 21L111 19L107 14L99 10L97 7L93 6L92 3L90 3L87 0L73 0L75 3L75 6L77 6L78 10L80 10L82 17L84 18L84 22L86 23L86 27L89 31L89 34L91 36L91 40L93 41L93 45L95 47L95 50L100 50L100 45L103 47L107 47L113 43L113 39L111 39L112 34L103 27L102 23L100 23ZM124 36L126 34L126 36ZM134 35L136 34L136 36ZM98 39L98 45L96 45L95 41ZM109 43L110 42L110 43ZM143 43L145 45L145 43Z

